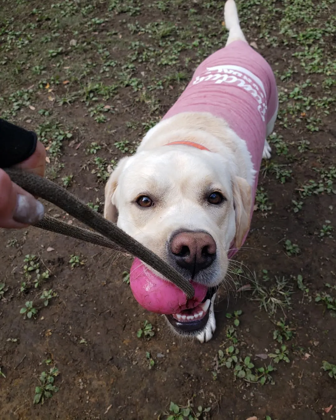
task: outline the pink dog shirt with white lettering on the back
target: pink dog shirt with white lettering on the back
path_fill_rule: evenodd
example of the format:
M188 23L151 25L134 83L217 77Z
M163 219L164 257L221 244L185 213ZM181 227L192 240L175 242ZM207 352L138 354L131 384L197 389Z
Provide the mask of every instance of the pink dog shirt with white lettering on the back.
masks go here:
M265 138L273 129L277 109L278 90L270 65L246 42L234 41L197 67L163 119L181 112L210 112L223 118L246 142L252 156L257 171L252 187L255 197ZM252 214L253 205L251 218Z

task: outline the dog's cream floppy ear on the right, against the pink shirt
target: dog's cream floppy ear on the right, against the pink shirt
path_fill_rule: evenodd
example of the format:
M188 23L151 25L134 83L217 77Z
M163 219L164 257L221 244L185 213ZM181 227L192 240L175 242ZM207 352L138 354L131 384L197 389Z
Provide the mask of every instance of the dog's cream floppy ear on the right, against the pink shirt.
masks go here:
M236 236L234 237L235 247L240 248L244 236L249 231L251 222L251 186L244 178L236 176L233 182L234 204L236 206Z

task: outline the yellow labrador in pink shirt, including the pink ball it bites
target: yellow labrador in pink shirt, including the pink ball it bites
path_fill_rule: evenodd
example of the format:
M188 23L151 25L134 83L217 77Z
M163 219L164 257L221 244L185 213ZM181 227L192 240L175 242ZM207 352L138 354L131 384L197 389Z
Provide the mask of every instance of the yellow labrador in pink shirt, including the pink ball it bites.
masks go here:
M246 42L234 0L225 5L225 47L196 69L185 91L120 160L105 187L105 218L171 264L195 288L175 285L134 260L136 300L173 330L204 342L228 260L247 236L266 136L278 110L268 63Z

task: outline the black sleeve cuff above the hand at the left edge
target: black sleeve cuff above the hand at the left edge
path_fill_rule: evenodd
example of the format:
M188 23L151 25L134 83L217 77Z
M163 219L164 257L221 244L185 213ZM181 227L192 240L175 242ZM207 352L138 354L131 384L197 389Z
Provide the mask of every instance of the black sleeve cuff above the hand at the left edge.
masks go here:
M0 168L21 163L35 152L37 135L0 118Z

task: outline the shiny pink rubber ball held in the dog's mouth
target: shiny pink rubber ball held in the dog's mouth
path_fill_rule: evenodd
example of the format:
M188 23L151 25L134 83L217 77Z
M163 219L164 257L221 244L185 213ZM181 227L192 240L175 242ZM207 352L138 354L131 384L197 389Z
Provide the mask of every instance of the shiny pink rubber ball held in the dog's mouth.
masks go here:
M129 283L135 299L141 306L150 312L165 315L194 308L207 294L206 286L192 283L195 295L192 299L187 299L184 292L175 284L156 276L138 258L134 258Z

